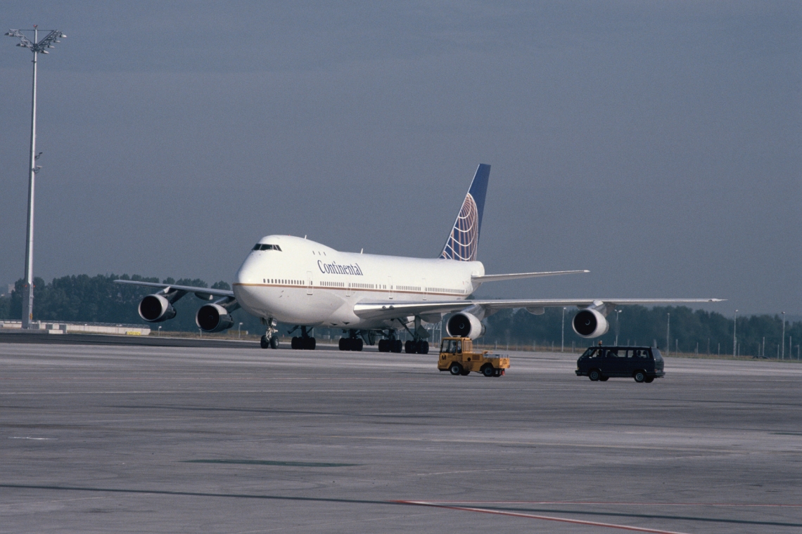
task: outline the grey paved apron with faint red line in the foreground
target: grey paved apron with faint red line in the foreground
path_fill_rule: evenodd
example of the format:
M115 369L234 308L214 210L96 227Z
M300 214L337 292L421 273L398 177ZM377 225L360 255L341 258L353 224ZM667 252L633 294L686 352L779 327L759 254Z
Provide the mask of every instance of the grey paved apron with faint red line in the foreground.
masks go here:
M510 355L0 343L0 532L802 529L802 365Z

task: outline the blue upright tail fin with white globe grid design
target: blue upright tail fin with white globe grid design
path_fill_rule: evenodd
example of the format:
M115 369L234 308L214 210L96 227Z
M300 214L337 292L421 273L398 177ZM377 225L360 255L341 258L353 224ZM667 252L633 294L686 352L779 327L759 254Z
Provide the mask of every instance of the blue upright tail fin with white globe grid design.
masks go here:
M488 192L490 166L480 163L473 176L471 188L456 216L451 234L446 239L440 258L456 259L460 262L476 260L479 249L479 232L482 229L482 212L484 211L484 195Z

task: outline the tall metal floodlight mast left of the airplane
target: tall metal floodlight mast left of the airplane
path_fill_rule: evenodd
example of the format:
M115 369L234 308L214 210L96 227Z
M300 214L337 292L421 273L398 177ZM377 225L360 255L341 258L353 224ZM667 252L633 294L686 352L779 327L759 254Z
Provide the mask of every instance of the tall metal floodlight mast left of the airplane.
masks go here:
M23 34L23 31L34 32L34 40ZM34 85L30 104L30 164L28 165L28 227L25 241L25 287L22 291L22 328L30 328L34 319L34 187L36 185L36 54L49 54L48 48L55 48L54 43L59 38L67 37L61 30L49 30L47 35L39 41L39 30L34 24L33 30L8 30L9 37L19 38L17 46L29 49L34 53Z

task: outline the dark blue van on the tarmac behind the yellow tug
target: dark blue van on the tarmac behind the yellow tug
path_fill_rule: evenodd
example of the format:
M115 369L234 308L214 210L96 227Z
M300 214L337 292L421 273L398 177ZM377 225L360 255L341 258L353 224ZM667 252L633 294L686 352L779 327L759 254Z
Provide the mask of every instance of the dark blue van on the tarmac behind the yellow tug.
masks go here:
M589 347L577 359L577 376L593 381L618 377L650 383L664 375L662 354L655 347Z

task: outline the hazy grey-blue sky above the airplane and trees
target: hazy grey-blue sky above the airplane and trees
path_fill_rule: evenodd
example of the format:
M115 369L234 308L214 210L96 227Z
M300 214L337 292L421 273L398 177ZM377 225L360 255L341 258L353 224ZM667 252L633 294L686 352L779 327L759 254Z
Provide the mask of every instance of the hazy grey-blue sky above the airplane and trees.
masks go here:
M3 2L39 63L34 272L231 280L262 235L437 255L492 171L483 296L802 313L798 2ZM30 52L0 40L0 281Z

